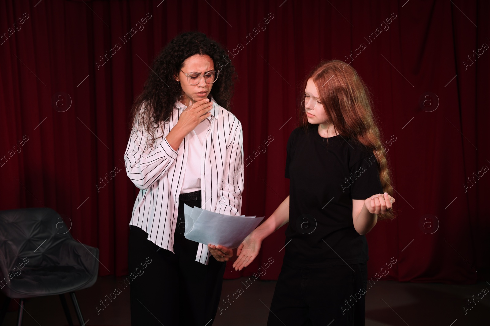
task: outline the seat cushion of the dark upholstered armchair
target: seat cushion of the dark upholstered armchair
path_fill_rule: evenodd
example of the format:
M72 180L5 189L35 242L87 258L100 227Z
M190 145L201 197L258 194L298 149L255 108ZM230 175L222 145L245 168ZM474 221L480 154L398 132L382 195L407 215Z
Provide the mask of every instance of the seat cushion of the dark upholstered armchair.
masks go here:
M73 266L25 268L3 290L10 298L33 298L73 292L92 286L97 274Z

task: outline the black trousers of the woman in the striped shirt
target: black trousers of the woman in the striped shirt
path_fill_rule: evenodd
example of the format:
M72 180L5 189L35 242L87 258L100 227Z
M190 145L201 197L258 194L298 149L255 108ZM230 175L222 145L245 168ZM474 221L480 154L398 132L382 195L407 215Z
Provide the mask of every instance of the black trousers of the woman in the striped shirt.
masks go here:
M200 199L179 200L174 254L149 241L141 228L130 226L128 273L137 275L130 283L132 326L213 324L226 265L212 256L208 265L196 261L198 243L183 236L184 202L201 204Z

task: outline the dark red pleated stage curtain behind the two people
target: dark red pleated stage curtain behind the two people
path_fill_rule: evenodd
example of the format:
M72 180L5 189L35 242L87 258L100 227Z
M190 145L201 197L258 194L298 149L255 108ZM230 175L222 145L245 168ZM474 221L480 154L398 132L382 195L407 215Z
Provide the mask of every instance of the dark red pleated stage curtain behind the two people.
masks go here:
M367 236L369 276L473 283L490 270L489 13L462 0L1 1L0 209L55 209L100 249L100 275L126 274L139 191L123 165L128 112L160 49L198 30L239 76L242 214L269 216L288 195L299 82L322 59L351 62L373 94L399 211ZM225 277L271 257L261 278L276 279L284 239L266 239L243 272L228 262Z

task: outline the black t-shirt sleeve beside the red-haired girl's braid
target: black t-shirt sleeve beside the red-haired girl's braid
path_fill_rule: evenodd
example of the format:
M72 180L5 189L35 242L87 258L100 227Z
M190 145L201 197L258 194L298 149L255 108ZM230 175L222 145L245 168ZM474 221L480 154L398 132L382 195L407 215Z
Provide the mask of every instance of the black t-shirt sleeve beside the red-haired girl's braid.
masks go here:
M360 159L352 166L350 175L356 178L350 188L352 199L364 200L372 195L383 193L378 166L374 154Z

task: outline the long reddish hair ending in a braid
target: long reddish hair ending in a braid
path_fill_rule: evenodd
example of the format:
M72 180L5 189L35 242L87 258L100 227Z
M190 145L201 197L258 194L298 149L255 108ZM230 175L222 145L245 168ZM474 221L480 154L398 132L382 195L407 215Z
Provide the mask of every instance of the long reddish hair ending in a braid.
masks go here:
M391 172L388 167L385 147L382 146L380 131L372 112L372 100L368 87L356 70L339 60L322 61L306 76L318 89L319 100L325 109L328 121L343 137L357 139L372 150L379 164L379 176L384 192L393 196ZM299 123L308 130L309 122L304 101L300 103ZM379 220L394 218L392 211L379 215Z

